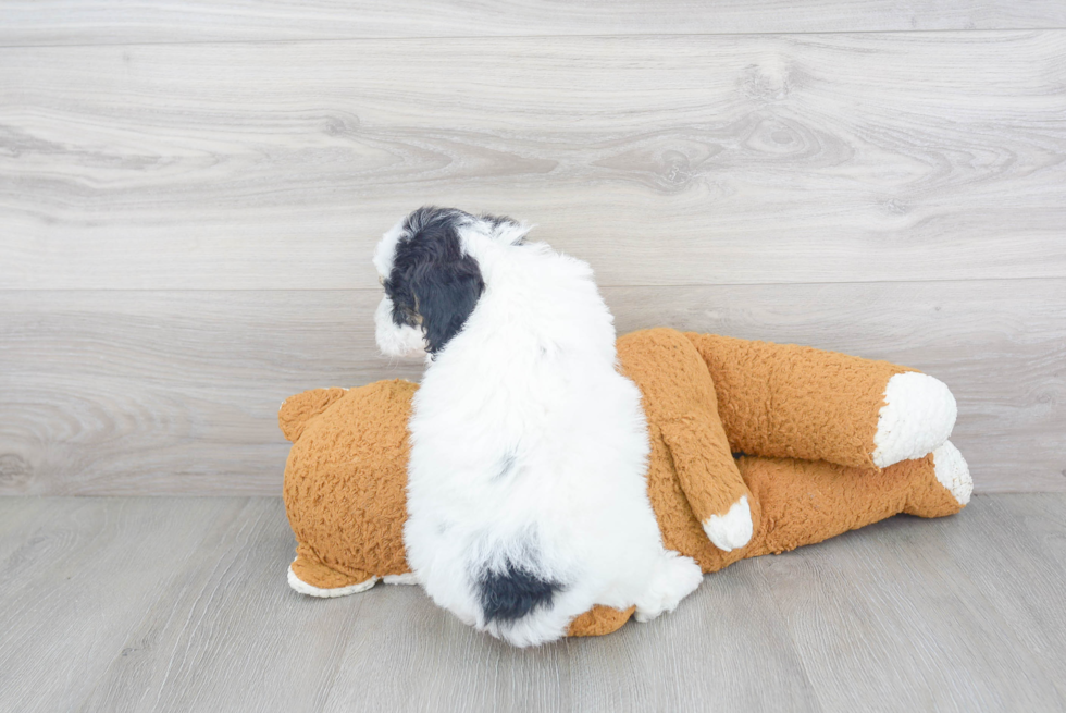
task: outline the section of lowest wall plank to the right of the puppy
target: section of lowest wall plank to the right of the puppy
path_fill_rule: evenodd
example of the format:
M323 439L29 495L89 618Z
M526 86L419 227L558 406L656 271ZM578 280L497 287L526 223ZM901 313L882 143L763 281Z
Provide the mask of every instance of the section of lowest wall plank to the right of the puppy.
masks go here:
M657 325L885 359L944 381L980 492L1066 490L1066 281L605 291L620 332Z

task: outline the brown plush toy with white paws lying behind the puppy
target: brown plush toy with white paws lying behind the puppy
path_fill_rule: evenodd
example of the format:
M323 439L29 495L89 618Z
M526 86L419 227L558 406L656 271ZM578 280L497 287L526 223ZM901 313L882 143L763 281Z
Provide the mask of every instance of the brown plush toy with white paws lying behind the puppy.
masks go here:
M618 356L643 394L662 542L705 573L900 513L952 515L969 501L966 462L946 440L954 398L913 369L669 329L619 339ZM288 581L298 592L414 583L404 521L417 389L379 381L283 404L278 422L293 442L285 507L297 540ZM595 606L569 634L609 634L632 612Z

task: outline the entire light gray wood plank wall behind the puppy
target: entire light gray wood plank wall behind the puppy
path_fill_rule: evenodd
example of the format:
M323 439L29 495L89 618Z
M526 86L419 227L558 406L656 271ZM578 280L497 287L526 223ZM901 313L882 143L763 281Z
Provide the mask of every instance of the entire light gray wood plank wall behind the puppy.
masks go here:
M276 494L425 202L619 329L908 364L983 492L1066 490L1066 3L0 4L0 494Z

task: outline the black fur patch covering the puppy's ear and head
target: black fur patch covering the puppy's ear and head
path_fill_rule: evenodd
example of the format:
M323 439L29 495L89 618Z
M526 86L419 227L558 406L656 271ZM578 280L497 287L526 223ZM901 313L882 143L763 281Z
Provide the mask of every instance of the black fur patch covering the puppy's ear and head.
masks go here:
M478 261L463 254L459 237L459 226L470 218L448 208L412 212L385 280L393 321L421 325L430 354L443 349L459 333L485 290Z

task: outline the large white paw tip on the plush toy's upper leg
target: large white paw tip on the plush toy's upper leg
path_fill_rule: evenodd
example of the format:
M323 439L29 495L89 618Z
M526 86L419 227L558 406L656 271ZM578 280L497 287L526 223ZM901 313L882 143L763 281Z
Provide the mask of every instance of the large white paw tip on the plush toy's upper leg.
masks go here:
M944 382L917 371L895 374L878 414L873 464L888 468L932 453L951 435L957 415L955 397Z

